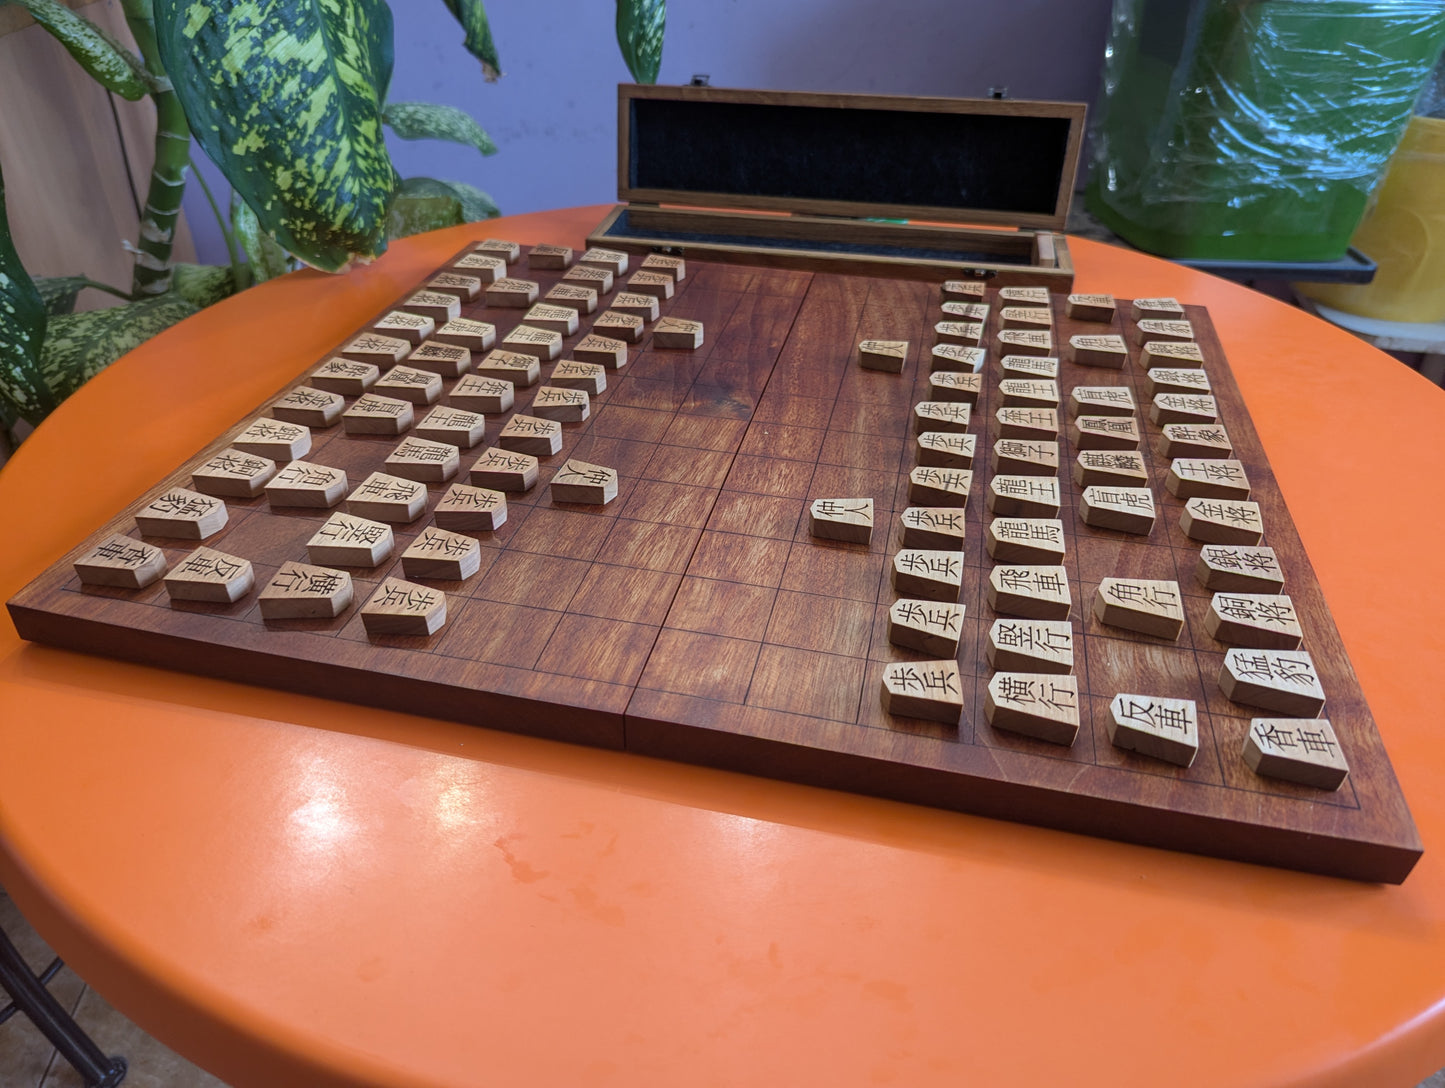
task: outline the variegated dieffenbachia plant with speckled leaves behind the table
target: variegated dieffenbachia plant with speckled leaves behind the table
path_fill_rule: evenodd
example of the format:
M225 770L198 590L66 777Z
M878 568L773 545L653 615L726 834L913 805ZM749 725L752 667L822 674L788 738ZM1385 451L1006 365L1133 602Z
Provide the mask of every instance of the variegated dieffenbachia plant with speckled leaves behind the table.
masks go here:
M197 308L303 262L345 272L389 237L499 215L471 185L397 176L383 127L494 155L468 114L390 103L392 10L386 0L121 0L131 52L61 0L25 7L107 91L149 95L156 147L129 290L79 276L32 282L10 244L0 181L0 425L38 423L84 380ZM483 77L501 75L483 0L442 0ZM666 0L616 0L617 42L633 78L655 82ZM230 266L172 262L191 140L231 185L230 208L207 198ZM204 178L197 175L202 186ZM72 314L77 293L126 299Z

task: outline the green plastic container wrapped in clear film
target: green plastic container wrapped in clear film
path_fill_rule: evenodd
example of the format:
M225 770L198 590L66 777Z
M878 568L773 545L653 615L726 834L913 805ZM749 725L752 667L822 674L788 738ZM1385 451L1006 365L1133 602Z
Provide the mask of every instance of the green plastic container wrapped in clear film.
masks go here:
M1116 0L1088 210L1166 257L1344 256L1445 1Z

